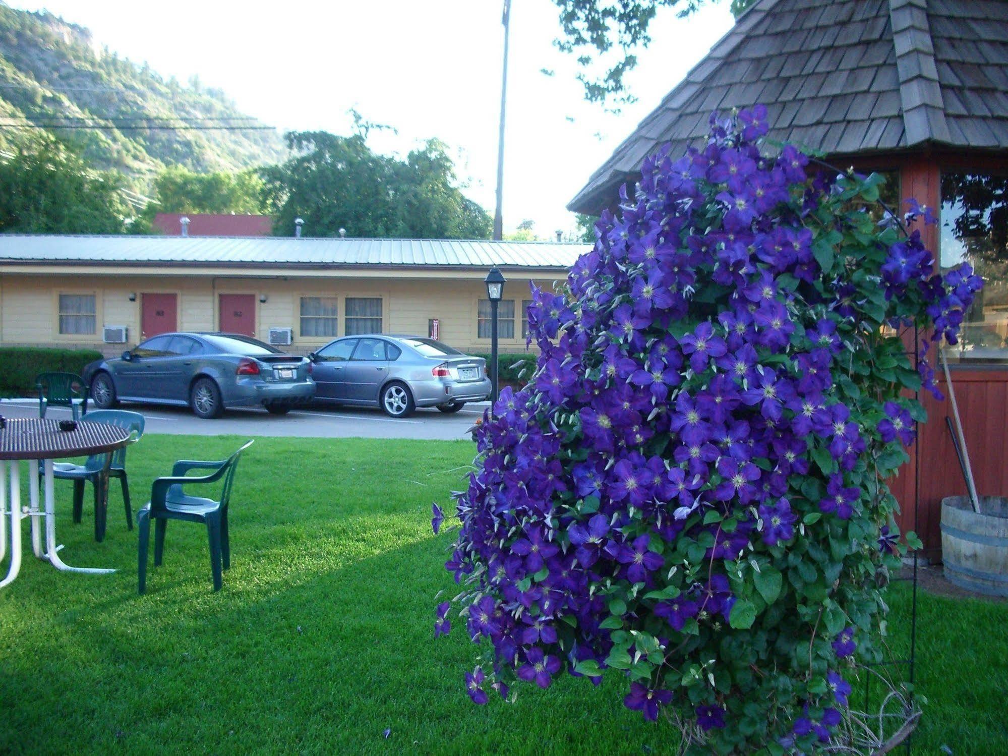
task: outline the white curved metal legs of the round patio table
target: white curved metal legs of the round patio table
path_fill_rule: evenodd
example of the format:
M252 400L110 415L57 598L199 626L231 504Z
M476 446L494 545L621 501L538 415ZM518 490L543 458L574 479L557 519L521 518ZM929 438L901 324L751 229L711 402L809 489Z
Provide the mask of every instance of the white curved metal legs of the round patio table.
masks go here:
M7 477L10 478L10 501L5 501ZM0 588L13 583L21 570L21 520L25 517L31 520L31 550L39 559L48 561L56 570L68 573L85 573L87 575L106 575L115 570L99 568L75 568L59 558L58 551L62 544L56 545L56 516L54 478L52 476L52 460L43 463L43 493L45 495L45 510L38 507L38 461L28 461L28 494L29 505L21 509L21 471L17 462L0 462L0 559L7 548L6 514L10 515L10 566L7 577L0 581ZM9 508L8 508L9 504ZM5 511L6 509L6 511ZM45 520L45 549L42 549L42 523Z

